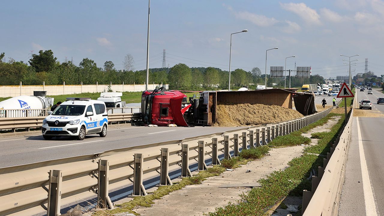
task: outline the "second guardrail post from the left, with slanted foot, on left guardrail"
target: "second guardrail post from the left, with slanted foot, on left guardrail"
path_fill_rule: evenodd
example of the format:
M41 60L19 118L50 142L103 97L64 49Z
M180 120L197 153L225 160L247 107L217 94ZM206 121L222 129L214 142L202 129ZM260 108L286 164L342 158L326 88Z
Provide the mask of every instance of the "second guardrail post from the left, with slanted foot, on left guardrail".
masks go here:
M97 187L97 206L99 208L113 209L113 204L108 194L109 185L109 162L108 160L99 160L98 169L98 187Z

